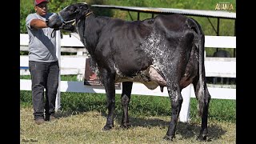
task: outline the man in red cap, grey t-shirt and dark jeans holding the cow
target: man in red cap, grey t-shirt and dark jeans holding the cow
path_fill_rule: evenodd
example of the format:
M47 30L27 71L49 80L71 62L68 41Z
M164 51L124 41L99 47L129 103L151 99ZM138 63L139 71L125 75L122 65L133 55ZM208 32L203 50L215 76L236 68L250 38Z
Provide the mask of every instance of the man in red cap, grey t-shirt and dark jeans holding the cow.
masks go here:
M32 81L33 114L37 124L54 119L58 89L59 66L56 57L54 29L46 24L46 20L53 13L47 13L47 4L47 0L35 0L34 10L36 12L26 17L26 29L30 38L29 67ZM46 89L45 94L44 89Z

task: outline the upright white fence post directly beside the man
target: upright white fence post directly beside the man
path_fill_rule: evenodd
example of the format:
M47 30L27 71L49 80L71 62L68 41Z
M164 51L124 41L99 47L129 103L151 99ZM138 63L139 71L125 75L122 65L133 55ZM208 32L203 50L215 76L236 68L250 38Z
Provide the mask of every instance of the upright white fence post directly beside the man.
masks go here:
M55 100L55 111L61 107L61 32L56 30L56 56L58 58L59 75L58 75L58 90Z

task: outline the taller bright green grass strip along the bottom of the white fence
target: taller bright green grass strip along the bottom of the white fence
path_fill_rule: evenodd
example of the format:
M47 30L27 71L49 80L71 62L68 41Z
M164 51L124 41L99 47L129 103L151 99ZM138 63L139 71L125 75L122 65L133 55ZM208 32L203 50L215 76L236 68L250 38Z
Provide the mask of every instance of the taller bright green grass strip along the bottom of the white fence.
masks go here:
M21 79L30 79L30 75L20 75ZM77 81L76 75L62 75L62 81ZM88 94L88 93L61 93L61 106L64 111L90 111L97 110L106 111L106 95L105 94ZM122 106L120 103L121 94L116 94L116 113L122 114ZM32 106L31 91L20 91L21 106ZM227 99L211 99L209 118L235 122L236 121L236 100ZM197 115L197 100L190 99L190 118L194 121L200 121ZM132 95L130 101L130 114L134 116L167 116L170 115L170 98L155 97L146 95Z

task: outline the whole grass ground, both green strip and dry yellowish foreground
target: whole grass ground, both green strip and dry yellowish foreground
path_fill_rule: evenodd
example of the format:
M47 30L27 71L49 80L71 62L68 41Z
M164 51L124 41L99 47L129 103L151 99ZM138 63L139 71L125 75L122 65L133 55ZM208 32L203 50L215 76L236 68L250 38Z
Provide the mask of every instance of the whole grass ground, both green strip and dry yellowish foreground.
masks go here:
M21 77L25 78L25 77ZM29 77L26 77L29 78ZM75 77L62 77L75 80ZM122 119L120 94L116 94L114 129L102 131L106 124L105 94L62 93L58 119L40 126L34 123L31 91L20 92L21 143L170 143L162 138L170 123L170 99L132 95L128 130L119 126ZM209 112L207 143L236 143L236 101L212 99ZM191 98L190 122L178 122L174 143L205 143L196 140L201 120L197 100Z

